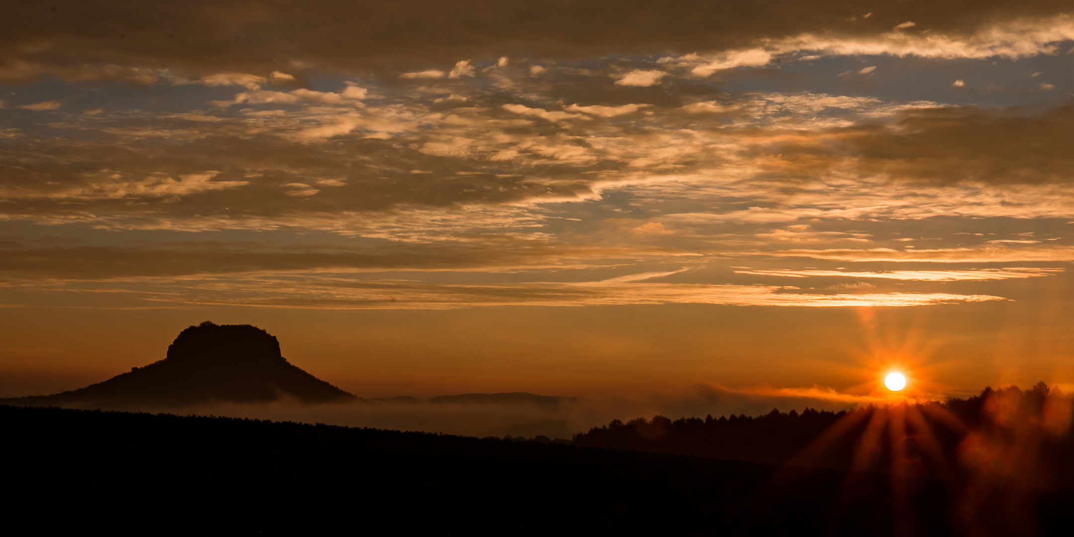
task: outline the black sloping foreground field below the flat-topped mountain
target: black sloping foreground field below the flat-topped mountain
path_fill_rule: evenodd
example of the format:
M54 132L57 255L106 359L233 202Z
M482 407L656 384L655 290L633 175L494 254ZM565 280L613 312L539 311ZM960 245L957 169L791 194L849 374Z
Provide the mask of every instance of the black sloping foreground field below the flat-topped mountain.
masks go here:
M892 495L884 474L224 418L0 406L0 424L3 520L27 534L963 533L925 478ZM1042 491L993 527L1048 535L1072 505Z

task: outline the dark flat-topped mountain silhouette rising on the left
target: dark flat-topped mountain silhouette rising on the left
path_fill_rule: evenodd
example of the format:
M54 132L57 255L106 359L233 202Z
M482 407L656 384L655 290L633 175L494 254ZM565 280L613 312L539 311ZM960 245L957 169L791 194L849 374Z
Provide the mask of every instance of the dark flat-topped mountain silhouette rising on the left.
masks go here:
M78 390L0 403L90 408L268 403L280 397L303 403L360 401L288 362L279 342L264 330L205 321L180 332L159 362Z

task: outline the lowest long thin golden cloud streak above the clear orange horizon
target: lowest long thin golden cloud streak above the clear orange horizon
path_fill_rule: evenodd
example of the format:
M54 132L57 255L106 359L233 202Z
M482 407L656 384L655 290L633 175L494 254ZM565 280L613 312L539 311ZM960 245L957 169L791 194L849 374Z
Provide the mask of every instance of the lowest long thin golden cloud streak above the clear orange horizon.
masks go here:
M19 260L14 261L15 263ZM367 279L350 271L253 271L198 274L176 289L175 277L148 276L92 282L27 278L10 281L38 292L125 289L149 301L174 306L231 305L309 309L458 309L482 306L624 306L719 304L774 307L911 307L1003 301L985 294L788 292L777 286L644 282L681 271L643 273L603 281L525 284L426 284ZM87 288L87 285L89 287ZM204 291L212 290L212 294Z

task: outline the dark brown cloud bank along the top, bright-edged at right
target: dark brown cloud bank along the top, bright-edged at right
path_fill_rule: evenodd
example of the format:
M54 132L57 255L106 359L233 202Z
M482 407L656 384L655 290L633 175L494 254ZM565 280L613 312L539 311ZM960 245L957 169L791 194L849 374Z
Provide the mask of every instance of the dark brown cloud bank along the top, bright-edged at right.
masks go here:
M238 0L153 6L120 0L107 16L90 5L71 5L55 14L15 6L0 27L0 46L11 52L0 63L0 79L26 82L49 75L156 84L220 72L270 77L287 66L288 73L301 81L305 75L299 71L306 69L353 74L392 66L433 74L444 72L430 66L451 64L459 58L495 62L505 55L587 58L667 52L720 57L739 50L781 52L794 43L802 50L832 54L1022 57L1070 39L1071 19L1069 5L1055 0L957 1L941 8L892 3L855 23L848 20L860 13L853 5L826 2L806 8L790 0L764 6L651 2L624 6L597 0L587 4L591 11L575 17L556 15L570 12L574 3L568 0L547 2L540 13L484 0L450 6L431 0L401 0L392 6L330 5L329 11L286 3L249 10ZM929 31L892 30L909 20L915 29ZM130 37L115 39L116 28ZM398 28L406 30L401 33Z

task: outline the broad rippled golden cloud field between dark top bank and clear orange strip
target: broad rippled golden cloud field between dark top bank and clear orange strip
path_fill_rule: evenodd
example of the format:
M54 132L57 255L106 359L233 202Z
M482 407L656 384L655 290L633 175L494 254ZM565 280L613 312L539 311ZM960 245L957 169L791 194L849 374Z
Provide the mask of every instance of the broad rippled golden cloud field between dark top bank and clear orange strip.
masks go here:
M884 21L866 37L896 40L886 33L906 19ZM918 27L900 32L905 39L939 34L924 18L913 19ZM1033 31L1044 35L1050 30L1042 25ZM801 35L792 30L784 33ZM946 31L943 39L958 33ZM845 38L843 45L861 38L825 35ZM115 250L97 261L104 250L5 255L18 278L35 272L41 277L33 285L45 287L33 289L47 292L106 289L169 307L231 301L355 309L966 304L1001 301L1002 292L986 287L990 281L1058 274L1027 264L1071 259L1061 228L1074 218L1068 150L1074 131L1063 101L986 107L857 91L736 91L691 73L701 67L716 75L731 64L765 61L771 70L750 76L782 76L773 73L793 57L758 43L656 63L652 57L576 62L527 53L549 66L536 77L529 60L500 64L498 56L465 54L440 61L439 52L345 76L321 71L329 68L314 59L307 64L286 56L272 70L221 64L194 76L187 67L180 76L158 69L156 84L171 85L145 91L180 96L170 101L175 110L110 102L99 114L41 115L37 125L0 131L9 142L0 146L0 219L15 229L142 230L150 243L176 232L190 233L194 243L212 236L199 233L220 231L270 232L260 236L295 243L328 236L405 246L410 257L318 250L300 262L264 245L272 251L160 246L166 251L145 260ZM758 50L764 54L753 54ZM850 64L863 72L869 63ZM452 64L455 76L446 72ZM445 71L412 83L398 78L427 67ZM320 74L310 78L309 70ZM285 71L293 79L273 74ZM667 73L674 84L657 87L666 77L649 89L609 84L632 73ZM1039 236L953 234L1021 230L1033 220L1042 222ZM911 236L920 237L916 248L892 238ZM44 256L41 264L33 256ZM121 259L139 270L116 267ZM184 268L155 261L164 259ZM693 270L715 259L770 264L719 277ZM816 292L752 285L790 277L802 264L795 259L1024 268L798 271L906 282L897 288L902 293L857 284L822 287L829 281ZM86 278L68 281L62 275L77 271L44 266L50 263L81 266ZM549 273L535 273L538 266ZM594 272L569 272L581 266ZM683 266L692 270L680 274ZM556 268L564 272L551 274ZM442 274L425 274L434 270ZM371 271L422 274L355 276ZM164 280L176 272L189 279L169 291ZM490 276L507 272L525 274L518 281ZM49 275L55 278L46 285ZM668 279L656 279L663 276ZM969 280L983 282L977 294L937 294L927 292L934 286L915 284ZM266 281L278 292L264 291ZM191 291L176 293L175 286Z

